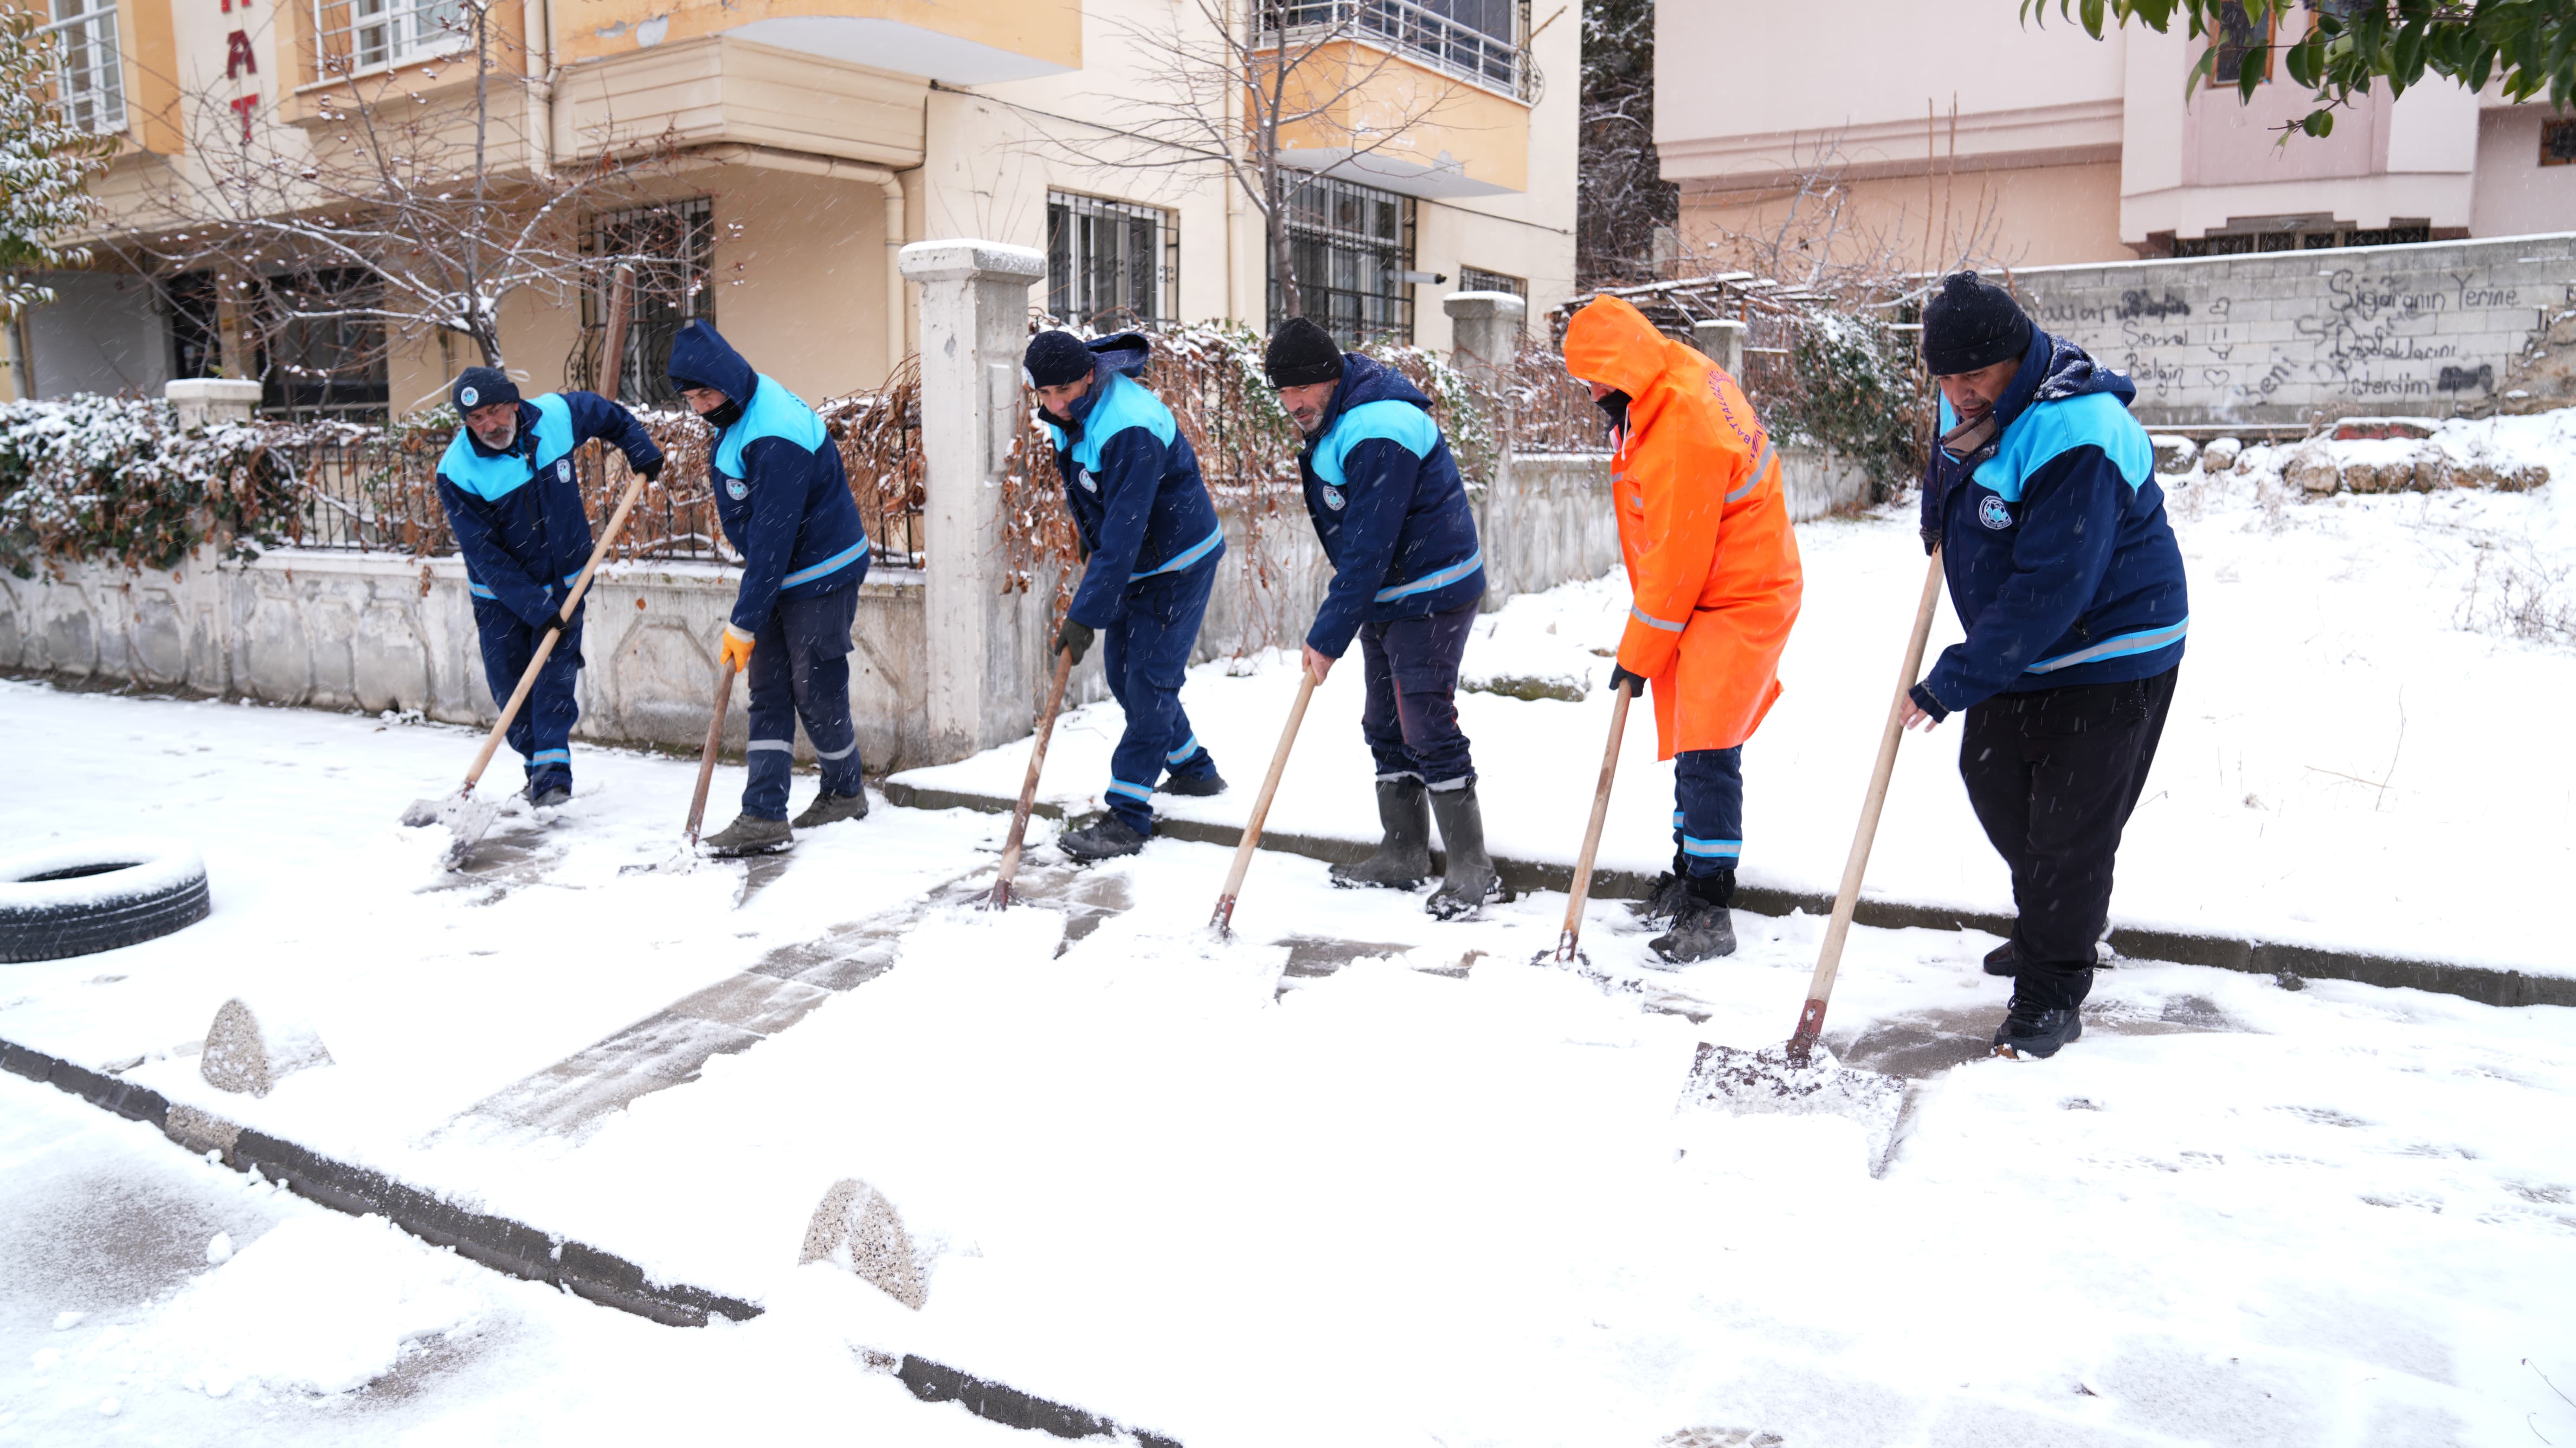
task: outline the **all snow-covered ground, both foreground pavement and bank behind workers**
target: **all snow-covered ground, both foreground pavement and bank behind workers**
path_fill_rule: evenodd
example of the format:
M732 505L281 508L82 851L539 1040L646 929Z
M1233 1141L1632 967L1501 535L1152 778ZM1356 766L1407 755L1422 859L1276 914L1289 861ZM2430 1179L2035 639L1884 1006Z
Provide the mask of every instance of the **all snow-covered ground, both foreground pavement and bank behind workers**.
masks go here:
M2195 644L2123 915L2571 969L2545 904L2576 776L2545 739L2576 660L2460 626L2494 624L2481 559L2563 577L2553 492L2179 492ZM1904 518L1801 538L1749 832L1757 879L1821 889L1922 557ZM1471 660L1597 680L1618 608L1515 600ZM1288 683L1193 675L1244 786ZM1355 683L1311 711L1275 827L1365 822ZM1468 698L1502 848L1571 855L1602 716ZM1059 734L1064 796L1110 732ZM1947 739L1909 742L1873 879L1996 907ZM0 1038L765 1309L652 1327L0 1077L0 1443L1012 1440L866 1353L1193 1448L2576 1438L2576 1010L2123 961L2079 1043L1994 1062L1991 938L1855 930L1829 1041L1911 1082L1873 1175L1847 1121L1674 1108L1698 1041L1788 1031L1811 917L1741 915L1734 961L1664 974L1595 904L1569 971L1533 964L1564 897L1440 925L1262 855L1218 946L1226 850L1077 873L1041 848L1033 904L992 917L966 899L1002 819L886 804L781 861L623 873L670 858L693 765L590 747L572 806L451 876L394 817L453 783L459 729L0 683L0 750L36 763L0 837L180 835L214 894L165 940L0 966ZM1007 791L1023 760L945 776ZM1643 729L1620 778L1618 863L1651 868ZM209 1087L196 1041L234 995L332 1064ZM902 1211L920 1311L796 1265L842 1177Z

